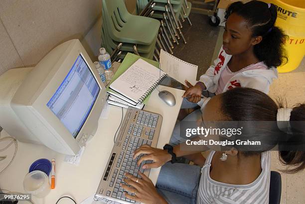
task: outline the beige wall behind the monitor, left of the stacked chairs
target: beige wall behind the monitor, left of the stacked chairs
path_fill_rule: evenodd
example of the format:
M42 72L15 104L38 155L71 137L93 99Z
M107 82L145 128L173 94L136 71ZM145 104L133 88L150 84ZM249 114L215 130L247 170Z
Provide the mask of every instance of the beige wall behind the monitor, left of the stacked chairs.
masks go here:
M136 0L126 0L132 13ZM0 74L35 65L58 44L78 38L95 60L102 0L0 0Z

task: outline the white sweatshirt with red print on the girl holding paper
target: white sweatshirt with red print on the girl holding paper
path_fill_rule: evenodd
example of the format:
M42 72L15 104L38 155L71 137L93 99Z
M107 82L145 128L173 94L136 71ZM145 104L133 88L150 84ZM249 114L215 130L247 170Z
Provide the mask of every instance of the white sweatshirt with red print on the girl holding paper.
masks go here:
M226 54L226 52L220 49L218 58L214 60L214 65L210 66L204 75L200 76L199 82L203 82L207 88L207 91L215 93L218 88L218 80L221 72L225 69L232 55ZM235 87L247 87L259 90L268 94L269 87L274 79L278 78L278 71L272 67L270 69L251 69L243 72L236 73L226 84L223 92ZM203 98L197 104L201 106L210 100L210 98Z

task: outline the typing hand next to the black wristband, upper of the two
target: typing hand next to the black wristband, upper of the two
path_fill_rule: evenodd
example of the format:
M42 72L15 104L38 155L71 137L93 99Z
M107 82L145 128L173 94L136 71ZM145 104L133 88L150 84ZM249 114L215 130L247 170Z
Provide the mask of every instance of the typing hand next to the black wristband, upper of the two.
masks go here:
M153 163L143 165L143 169L158 168L171 160L171 155L167 150L152 148L149 145L142 145L139 149L134 152L134 158L140 156L141 154L146 154L138 160L138 166L141 165L143 161L152 160Z

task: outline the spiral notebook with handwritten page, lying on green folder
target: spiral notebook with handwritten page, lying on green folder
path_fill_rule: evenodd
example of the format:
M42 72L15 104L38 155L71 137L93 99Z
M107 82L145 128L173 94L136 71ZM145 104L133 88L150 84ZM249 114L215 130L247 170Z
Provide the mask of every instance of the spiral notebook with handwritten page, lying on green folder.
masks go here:
M132 102L142 103L164 78L166 74L162 70L139 59L109 88Z

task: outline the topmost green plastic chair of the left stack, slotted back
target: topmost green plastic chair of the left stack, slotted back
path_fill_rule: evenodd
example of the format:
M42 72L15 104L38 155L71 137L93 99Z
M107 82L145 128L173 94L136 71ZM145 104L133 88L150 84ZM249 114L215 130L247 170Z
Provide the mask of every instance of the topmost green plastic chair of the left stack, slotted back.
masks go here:
M123 43L151 45L158 33L156 19L130 14L124 0L102 0L103 20L109 36Z

